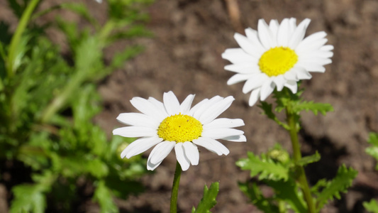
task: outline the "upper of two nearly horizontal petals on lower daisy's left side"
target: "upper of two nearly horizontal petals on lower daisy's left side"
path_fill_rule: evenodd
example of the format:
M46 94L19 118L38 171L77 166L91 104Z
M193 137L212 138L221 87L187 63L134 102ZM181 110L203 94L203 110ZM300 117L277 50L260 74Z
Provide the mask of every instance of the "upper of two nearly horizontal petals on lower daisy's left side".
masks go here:
M141 113L121 113L118 115L117 120L122 124L130 126L145 126L150 128L156 128L159 126L159 122L152 119L150 116Z

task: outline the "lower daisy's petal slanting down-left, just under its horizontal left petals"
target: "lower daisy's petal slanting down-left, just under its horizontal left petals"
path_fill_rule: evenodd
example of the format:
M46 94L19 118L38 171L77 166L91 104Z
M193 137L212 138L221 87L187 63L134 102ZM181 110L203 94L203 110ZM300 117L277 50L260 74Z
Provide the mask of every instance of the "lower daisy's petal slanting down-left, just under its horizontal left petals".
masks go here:
M131 158L134 155L139 155L147 151L152 146L155 146L157 143L162 142L163 139L157 136L152 136L148 138L139 138L138 140L130 143L121 153L121 158Z

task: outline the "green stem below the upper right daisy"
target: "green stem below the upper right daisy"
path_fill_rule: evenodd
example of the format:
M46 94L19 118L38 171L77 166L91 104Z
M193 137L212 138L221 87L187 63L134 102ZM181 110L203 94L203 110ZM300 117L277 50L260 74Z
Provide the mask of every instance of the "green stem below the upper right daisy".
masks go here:
M294 164L298 169L298 181L301 185L302 192L304 193L304 199L307 202L308 212L309 213L316 213L315 204L313 202L313 197L311 196L310 188L308 187L308 182L306 178L306 173L304 173L304 167L302 165L298 165L299 160L301 160L301 146L299 145L298 140L298 129L297 129L297 121L296 121L296 114L294 114L290 107L288 106L286 109L287 114L287 124L289 125L289 134L291 138L291 145L293 146L293 157L294 157Z

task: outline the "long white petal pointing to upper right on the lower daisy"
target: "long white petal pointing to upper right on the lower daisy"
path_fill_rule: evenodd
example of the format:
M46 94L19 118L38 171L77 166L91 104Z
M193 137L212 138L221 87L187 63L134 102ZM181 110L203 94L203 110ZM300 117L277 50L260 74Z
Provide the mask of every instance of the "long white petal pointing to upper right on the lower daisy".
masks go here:
M201 116L199 116L199 121L201 124L209 124L213 119L216 119L223 111L226 111L228 107L233 103L235 99L232 96L226 97L225 99L217 102L216 104L210 105L206 111L204 111Z

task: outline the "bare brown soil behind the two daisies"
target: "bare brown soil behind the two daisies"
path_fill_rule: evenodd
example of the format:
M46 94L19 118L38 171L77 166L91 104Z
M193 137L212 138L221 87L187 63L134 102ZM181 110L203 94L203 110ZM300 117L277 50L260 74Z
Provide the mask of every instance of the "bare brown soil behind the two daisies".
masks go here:
M99 12L96 16L104 18L101 5L86 2ZM306 173L313 185L321 178L333 178L342 164L355 168L359 174L351 190L341 200L328 204L323 212L365 212L362 202L378 198L378 172L374 171L377 162L365 153L368 133L378 132L378 1L238 1L240 26L230 21L226 2L158 0L152 4L148 28L155 36L136 40L145 46L145 51L99 85L105 110L96 117L96 123L109 133L121 126L116 116L135 111L129 102L133 97L162 100L163 92L172 90L180 102L188 94L196 94L196 103L215 95L232 95L235 102L222 116L242 118L245 126L240 129L248 141L224 142L230 149L227 156L201 149L199 165L182 173L178 208L180 212L190 212L199 203L204 185L219 181L218 204L212 212L260 212L238 189L238 181L248 180L249 173L235 166L235 161L245 158L247 151L265 152L274 143L291 151L289 135L262 116L261 109L248 107L249 96L241 92L243 83L227 86L233 73L223 70L229 62L221 58L221 53L226 48L237 48L235 31L240 31L240 26L257 28L259 18L282 21L295 17L297 23L311 18L306 35L326 31L328 43L335 50L326 72L313 74L311 80L303 82L304 98L328 102L335 111L326 116L301 114L302 151L304 155L318 151L322 156L320 162L308 166ZM107 57L127 44L109 48ZM126 201L117 200L121 212L167 212L174 166L171 153L154 174L141 179L145 193ZM96 211L89 208L87 212Z

